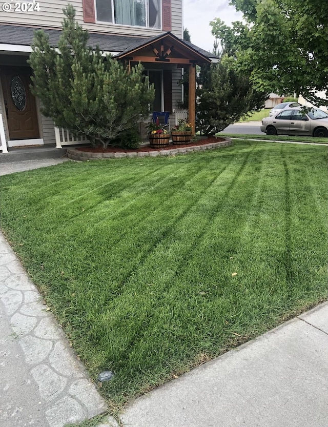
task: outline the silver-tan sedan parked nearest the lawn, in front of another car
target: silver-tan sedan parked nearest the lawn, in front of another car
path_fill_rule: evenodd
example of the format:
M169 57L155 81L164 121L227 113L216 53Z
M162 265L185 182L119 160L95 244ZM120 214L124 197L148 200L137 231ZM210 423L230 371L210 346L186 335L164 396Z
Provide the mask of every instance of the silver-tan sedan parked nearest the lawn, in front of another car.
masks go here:
M262 119L261 132L267 135L310 135L328 137L328 113L301 107L283 110L281 113Z

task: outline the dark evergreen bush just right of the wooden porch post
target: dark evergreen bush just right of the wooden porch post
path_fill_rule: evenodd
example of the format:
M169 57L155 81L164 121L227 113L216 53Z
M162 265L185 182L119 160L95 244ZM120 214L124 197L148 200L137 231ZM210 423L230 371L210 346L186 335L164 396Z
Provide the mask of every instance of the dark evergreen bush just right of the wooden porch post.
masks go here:
M248 76L227 54L220 62L201 67L198 76L196 130L214 135L246 113L263 108L267 96L255 91Z

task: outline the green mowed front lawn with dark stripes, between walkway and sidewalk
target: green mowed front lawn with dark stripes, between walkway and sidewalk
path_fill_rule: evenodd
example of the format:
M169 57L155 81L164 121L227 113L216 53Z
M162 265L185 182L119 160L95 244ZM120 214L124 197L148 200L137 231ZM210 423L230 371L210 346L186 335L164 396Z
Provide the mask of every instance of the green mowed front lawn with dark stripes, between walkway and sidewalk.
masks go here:
M66 162L1 177L2 229L114 411L327 298L327 181L250 141Z

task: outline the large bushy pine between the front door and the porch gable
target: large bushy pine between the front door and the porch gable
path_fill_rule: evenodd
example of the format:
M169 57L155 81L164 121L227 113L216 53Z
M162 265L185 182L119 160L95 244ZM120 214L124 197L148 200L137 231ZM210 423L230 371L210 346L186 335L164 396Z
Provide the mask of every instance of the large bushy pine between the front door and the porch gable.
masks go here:
M89 35L76 23L74 8L69 5L63 11L60 53L50 47L43 30L34 34L31 90L55 126L106 148L148 116L154 89L141 65L128 70L110 55L104 57L98 47L88 47Z

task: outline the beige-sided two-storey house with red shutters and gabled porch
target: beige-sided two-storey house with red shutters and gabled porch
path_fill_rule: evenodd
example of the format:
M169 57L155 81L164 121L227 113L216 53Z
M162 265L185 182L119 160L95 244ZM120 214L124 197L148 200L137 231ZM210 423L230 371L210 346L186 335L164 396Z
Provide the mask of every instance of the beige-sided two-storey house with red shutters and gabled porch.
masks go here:
M90 46L98 45L127 65L144 65L155 86L154 111L173 113L177 108L182 99L181 71L188 68L189 117L194 122L196 65L218 58L183 42L182 0L43 0L31 3L34 10L26 12L30 3L12 2L10 11L0 8L0 137L5 135L9 147L60 147L76 139L55 129L52 119L40 113L39 100L29 90L32 70L27 64L35 29L43 28L57 47L68 3L75 8L78 23L89 31Z

